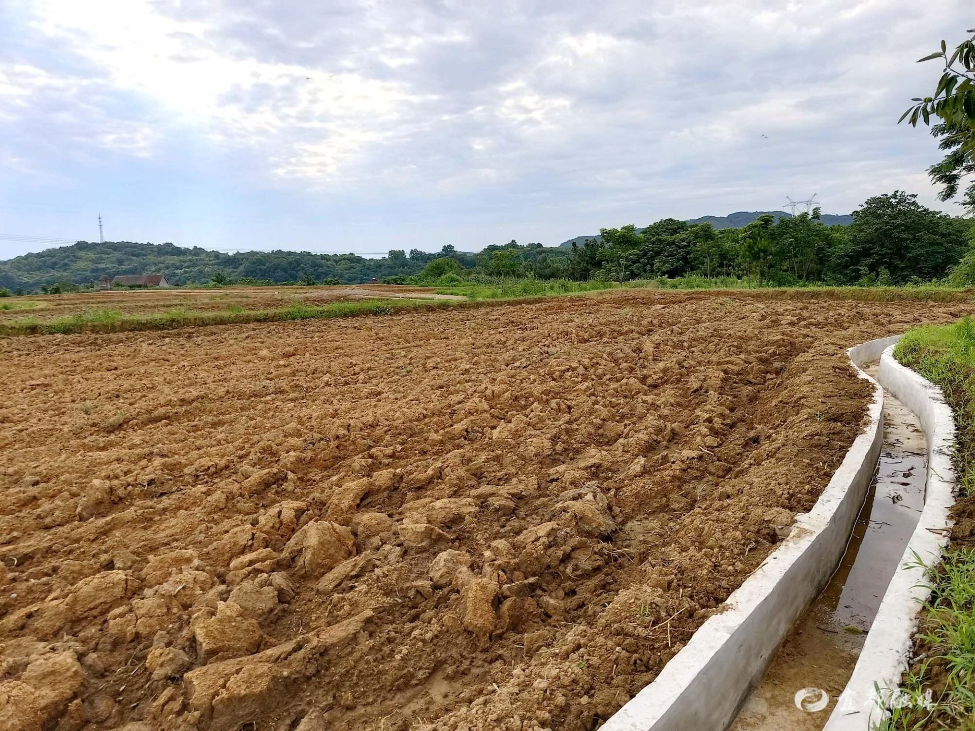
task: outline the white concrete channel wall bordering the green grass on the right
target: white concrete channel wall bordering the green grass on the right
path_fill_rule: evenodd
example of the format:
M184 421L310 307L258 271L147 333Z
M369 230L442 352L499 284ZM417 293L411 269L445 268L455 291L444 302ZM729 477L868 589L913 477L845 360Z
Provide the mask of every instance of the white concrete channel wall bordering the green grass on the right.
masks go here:
M924 581L925 570L917 565L916 555L929 565L940 560L948 545L949 514L955 502L956 476L951 459L955 419L941 389L897 363L893 346L885 349L880 357L878 381L917 414L924 430L927 440L924 509L880 601L870 634L826 724L826 731L869 731L886 716L886 707L895 700L892 693L908 668L917 612L930 594Z

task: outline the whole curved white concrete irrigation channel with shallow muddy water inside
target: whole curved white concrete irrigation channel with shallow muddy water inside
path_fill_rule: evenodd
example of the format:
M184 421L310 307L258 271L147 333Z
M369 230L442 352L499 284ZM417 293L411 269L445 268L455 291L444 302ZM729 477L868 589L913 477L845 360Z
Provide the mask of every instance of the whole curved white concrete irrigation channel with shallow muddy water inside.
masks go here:
M883 717L926 596L913 559L940 556L954 486L951 411L894 361L898 339L849 350L874 404L815 508L604 728L868 731Z

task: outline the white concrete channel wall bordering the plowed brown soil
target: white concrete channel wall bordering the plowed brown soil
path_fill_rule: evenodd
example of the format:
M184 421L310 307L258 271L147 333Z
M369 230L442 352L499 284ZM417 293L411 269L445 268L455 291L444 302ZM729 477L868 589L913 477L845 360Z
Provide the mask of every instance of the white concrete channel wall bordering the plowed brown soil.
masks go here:
M813 509L701 625L683 649L603 726L604 731L720 731L761 679L782 640L833 575L874 477L883 440L883 390L859 368L896 338L847 353L874 385L864 431Z

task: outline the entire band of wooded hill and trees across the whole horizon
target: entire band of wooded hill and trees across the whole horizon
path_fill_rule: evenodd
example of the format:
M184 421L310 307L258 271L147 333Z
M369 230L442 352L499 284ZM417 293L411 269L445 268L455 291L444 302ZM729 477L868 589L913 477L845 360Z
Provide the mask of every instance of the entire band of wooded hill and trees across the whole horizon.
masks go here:
M186 286L338 285L376 278L391 284L451 285L478 278L600 279L736 277L755 286L904 285L950 279L975 284L973 222L931 211L917 196L894 191L869 199L848 226L827 226L819 210L771 214L741 228L715 229L674 218L604 228L571 248L489 246L478 253L447 245L386 256L300 251L222 253L173 244L89 243L0 262L0 288L69 291L102 274L165 274Z

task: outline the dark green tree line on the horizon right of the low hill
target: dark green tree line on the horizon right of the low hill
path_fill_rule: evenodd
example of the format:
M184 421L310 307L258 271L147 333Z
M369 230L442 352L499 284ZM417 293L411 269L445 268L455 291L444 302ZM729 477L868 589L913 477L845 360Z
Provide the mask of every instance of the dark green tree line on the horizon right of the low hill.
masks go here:
M759 287L894 286L951 275L964 285L975 283L960 276L967 265L975 277L975 253L966 255L973 232L973 221L931 211L916 195L894 191L869 199L848 226L823 224L818 209L778 221L764 214L741 228L665 218L643 229L604 228L598 238L573 241L565 250L515 241L487 247L471 271L439 257L395 281L445 285L480 274L626 282L697 275L748 279Z

